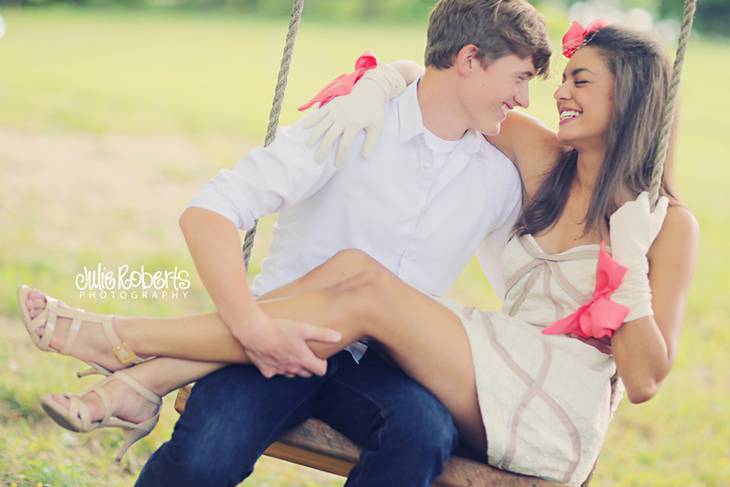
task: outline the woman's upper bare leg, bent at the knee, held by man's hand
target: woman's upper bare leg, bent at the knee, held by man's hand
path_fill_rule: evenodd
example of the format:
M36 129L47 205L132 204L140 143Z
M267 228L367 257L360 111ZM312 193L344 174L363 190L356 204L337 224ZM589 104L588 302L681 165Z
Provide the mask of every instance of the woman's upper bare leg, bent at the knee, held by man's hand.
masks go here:
M275 318L308 321L340 331L343 340L339 344L310 344L322 358L358 338L375 338L388 348L406 373L444 402L464 437L484 451L486 437L477 403L471 353L459 318L379 264L369 267L372 270L341 284L263 303L262 308ZM125 330L123 339L137 353L248 363L244 349L217 313L143 319L147 323L142 320L135 323L135 320L130 320L127 326L121 320L119 328ZM189 372L192 375L193 370ZM181 378L179 382L197 377Z

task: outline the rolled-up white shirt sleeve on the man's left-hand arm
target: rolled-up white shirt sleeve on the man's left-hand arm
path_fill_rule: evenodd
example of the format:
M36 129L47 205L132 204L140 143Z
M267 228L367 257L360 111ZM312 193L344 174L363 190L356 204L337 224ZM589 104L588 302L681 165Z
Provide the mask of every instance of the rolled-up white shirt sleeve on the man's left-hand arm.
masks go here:
M186 208L214 211L236 228L249 230L256 219L305 200L335 172L335 148L318 162L316 147L307 146L308 137L301 120L280 128L273 143L253 149L232 169L221 170Z

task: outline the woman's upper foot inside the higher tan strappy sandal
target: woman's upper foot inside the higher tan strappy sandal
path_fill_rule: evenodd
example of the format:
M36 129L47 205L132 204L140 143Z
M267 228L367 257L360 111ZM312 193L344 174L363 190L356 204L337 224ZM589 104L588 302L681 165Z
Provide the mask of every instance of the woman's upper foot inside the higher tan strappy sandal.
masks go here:
M20 296L25 297L21 303L25 307L25 311L30 320L35 321L39 318L39 322L28 327L29 333L35 335L34 343L38 345L43 341L44 335L47 333L47 323L51 318L51 312L57 313L54 324L52 326L51 336L46 337L47 346L42 349L50 348L52 351L70 355L79 360L83 360L89 364L97 364L108 371L120 370L133 363L138 363L141 359L131 352L127 345L124 344L116 333L118 329L119 319L109 315L97 315L95 313L85 312L79 308L72 308L63 301L56 301L47 297L38 289L21 288ZM49 301L54 303L54 310L45 313L45 318L41 317ZM67 316L64 316L67 315ZM78 331L72 329L72 315L78 316L80 326ZM109 322L108 330L100 324L99 318ZM88 318L88 319L85 319ZM110 336L111 335L111 336ZM115 347L118 346L118 347ZM114 352L114 348L119 348L118 352ZM124 360L130 358L131 360Z

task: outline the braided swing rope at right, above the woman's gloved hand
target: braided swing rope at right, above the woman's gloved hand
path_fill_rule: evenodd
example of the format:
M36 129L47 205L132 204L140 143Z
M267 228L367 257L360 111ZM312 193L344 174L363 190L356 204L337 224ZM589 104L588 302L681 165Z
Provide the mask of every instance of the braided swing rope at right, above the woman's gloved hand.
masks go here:
M687 50L689 36L692 33L692 21L694 20L695 10L697 9L697 0L684 0L684 17L682 18L682 29L680 30L679 40L677 44L677 56L674 58L674 68L672 69L672 80L669 85L669 95L667 102L664 104L662 112L662 128L659 135L659 148L657 150L656 159L654 160L654 170L651 176L651 184L649 186L649 201L652 208L656 205L659 198L659 188L662 184L664 176L664 163L669 150L669 138L674 123L674 107L677 102L677 92L679 91L679 77L684 64L684 53Z

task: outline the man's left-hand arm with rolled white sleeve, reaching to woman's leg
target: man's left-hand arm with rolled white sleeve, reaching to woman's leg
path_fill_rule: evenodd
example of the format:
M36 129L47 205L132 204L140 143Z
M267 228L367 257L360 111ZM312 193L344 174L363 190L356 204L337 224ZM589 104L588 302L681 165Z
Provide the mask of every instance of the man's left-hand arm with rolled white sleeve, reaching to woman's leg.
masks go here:
M196 269L221 319L266 377L324 374L306 340L338 341L331 330L272 320L256 303L246 281L238 228L249 229L266 214L297 204L334 173L331 157L314 162L305 133L291 127L268 148L255 149L233 170L203 187L180 217Z

